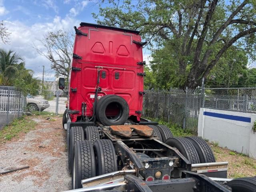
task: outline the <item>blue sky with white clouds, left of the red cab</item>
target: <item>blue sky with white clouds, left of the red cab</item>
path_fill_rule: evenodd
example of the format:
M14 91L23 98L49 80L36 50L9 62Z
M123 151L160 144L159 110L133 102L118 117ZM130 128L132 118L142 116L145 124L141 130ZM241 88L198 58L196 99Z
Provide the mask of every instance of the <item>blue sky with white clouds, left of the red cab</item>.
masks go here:
M37 54L33 42L36 39L59 29L74 30L80 22L95 23L92 12L98 12L98 0L0 0L0 20L12 33L10 44L0 44L1 48L20 53L26 61L26 68L34 70L34 76L42 79L42 66L45 66L45 79L54 80L54 70L50 61Z

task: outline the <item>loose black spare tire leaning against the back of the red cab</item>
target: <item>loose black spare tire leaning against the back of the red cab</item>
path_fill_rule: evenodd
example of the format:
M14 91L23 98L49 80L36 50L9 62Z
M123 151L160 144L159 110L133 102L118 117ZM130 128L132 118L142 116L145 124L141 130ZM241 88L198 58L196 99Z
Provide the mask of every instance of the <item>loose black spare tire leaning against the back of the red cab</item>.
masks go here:
M124 98L106 95L100 98L96 106L96 118L104 126L122 125L129 117L129 106Z

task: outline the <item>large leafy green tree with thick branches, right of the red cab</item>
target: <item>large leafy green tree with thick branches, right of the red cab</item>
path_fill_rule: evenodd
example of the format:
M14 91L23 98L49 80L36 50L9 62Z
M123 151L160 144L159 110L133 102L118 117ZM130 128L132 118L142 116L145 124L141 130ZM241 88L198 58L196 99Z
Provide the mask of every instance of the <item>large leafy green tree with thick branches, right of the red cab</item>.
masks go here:
M232 73L247 57L255 59L256 0L108 3L110 6L101 7L94 18L99 24L140 30L152 50L151 68L162 73L159 80L169 81L166 86L195 88L202 78L211 80L216 66L223 70L229 66ZM240 54L243 56L238 57ZM215 73L220 73L218 70ZM230 83L230 77L223 77L227 78Z

